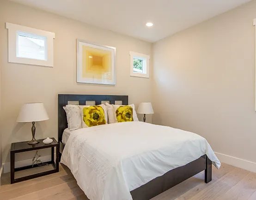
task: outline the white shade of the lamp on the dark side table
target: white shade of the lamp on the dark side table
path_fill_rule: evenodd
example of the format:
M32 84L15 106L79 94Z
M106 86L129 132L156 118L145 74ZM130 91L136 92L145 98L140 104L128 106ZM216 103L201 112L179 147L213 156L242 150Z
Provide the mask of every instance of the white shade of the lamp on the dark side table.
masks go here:
M20 109L17 122L39 122L48 119L43 103L25 103Z

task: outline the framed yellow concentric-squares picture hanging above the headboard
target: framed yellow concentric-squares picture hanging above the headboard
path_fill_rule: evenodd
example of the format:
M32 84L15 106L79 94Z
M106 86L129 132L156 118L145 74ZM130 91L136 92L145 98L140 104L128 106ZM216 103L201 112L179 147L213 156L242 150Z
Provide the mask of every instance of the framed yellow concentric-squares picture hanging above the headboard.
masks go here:
M116 85L116 48L77 40L77 82Z

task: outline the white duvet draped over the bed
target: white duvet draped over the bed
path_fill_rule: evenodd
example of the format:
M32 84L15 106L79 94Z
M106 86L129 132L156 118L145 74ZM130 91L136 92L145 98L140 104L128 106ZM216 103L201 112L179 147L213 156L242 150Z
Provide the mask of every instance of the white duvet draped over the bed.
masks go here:
M90 200L132 200L129 191L206 154L220 162L200 135L143 122L106 124L72 132L61 163Z

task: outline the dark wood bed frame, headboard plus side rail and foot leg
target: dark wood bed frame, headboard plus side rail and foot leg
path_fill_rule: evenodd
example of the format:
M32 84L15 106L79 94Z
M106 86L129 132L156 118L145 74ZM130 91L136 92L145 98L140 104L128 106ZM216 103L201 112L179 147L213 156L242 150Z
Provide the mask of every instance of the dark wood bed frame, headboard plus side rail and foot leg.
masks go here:
M68 104L68 101L77 101L79 105L86 105L86 101L95 101L95 105L101 104L102 101L109 101L110 104L115 104L115 101L122 101L122 105L128 105L128 96L119 95L81 95L81 94L59 94L58 95L58 139L60 146L62 143L62 134L67 128L67 117L63 106ZM62 152L62 151L61 151ZM60 152L60 158L61 158ZM185 181L186 179L195 176L201 171L205 171L205 182L212 180L212 161L207 155L201 156L187 165L178 167L168 171L163 176L159 176L145 185L131 191L133 200L150 200L154 196L172 188L173 186Z

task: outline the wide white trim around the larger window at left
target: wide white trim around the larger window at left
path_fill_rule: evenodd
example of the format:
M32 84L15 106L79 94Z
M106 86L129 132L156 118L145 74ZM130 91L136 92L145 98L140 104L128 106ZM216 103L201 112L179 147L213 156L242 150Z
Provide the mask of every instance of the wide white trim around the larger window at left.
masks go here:
M8 62L53 67L53 39L55 39L55 33L8 22L6 22L6 29L8 29ZM17 31L47 37L47 60L17 57Z

